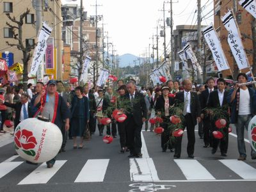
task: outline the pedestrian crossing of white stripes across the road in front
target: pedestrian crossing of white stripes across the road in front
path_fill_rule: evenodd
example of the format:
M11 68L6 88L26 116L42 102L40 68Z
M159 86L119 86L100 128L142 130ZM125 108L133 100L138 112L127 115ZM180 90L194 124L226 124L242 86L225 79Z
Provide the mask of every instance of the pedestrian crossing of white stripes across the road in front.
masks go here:
M24 161L10 161L16 157L11 157L10 159L0 163L0 184L4 177L8 177L9 173L19 171L17 168L20 166L28 166ZM219 179L216 177L216 173L207 167L205 163L196 159L173 159L172 166L177 166L179 171L175 173L175 180L168 180L170 178L163 174L163 170L157 170L152 158L136 158L129 159L129 170L130 173L120 172L120 177L122 174L129 174L131 182L204 182L204 181L236 181L236 180L256 180L256 169L250 164L244 161L237 161L236 159L221 159L218 161L212 161L211 166L218 167L218 164L223 164L223 167L228 170L226 179ZM67 164L67 160L58 160L54 164L53 168L46 168L46 164L42 163L35 168L31 173L28 173L24 178L20 178L17 185L27 185L27 184L46 184L51 180L56 173L64 169L64 165ZM70 180L74 183L86 183L86 182L104 182L106 180L106 175L108 175L108 167L111 164L111 159L88 159L85 160L81 170L77 172L76 179ZM118 168L116 168L118 169ZM221 168L223 169L223 168ZM219 172L220 169L216 169ZM237 175L236 179L230 179L229 173L233 172ZM108 174L107 174L108 173ZM223 171L225 174L225 170ZM164 176L163 176L164 175ZM214 177L215 176L215 177ZM186 178L186 179L183 179ZM115 182L114 180L112 182Z

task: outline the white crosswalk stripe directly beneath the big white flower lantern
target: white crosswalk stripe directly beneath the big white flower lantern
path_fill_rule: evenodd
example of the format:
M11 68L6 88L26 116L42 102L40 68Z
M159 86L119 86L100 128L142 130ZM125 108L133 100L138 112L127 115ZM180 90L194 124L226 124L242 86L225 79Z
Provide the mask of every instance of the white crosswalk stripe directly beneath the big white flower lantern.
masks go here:
M19 185L24 184L45 184L55 175L61 166L65 164L67 160L56 161L52 168L46 168L46 164L43 163L36 168L32 173L19 182Z

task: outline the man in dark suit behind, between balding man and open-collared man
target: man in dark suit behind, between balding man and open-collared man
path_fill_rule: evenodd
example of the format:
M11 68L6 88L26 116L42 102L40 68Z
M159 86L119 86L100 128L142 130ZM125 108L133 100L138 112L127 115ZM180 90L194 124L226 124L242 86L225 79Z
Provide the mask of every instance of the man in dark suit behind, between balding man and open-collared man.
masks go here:
M209 100L209 95L214 91L214 79L210 77L206 81L207 88L200 94L200 105L201 105L201 118L203 119L204 127L204 147L207 148L212 145L212 136L211 136L211 120L207 110L207 102Z

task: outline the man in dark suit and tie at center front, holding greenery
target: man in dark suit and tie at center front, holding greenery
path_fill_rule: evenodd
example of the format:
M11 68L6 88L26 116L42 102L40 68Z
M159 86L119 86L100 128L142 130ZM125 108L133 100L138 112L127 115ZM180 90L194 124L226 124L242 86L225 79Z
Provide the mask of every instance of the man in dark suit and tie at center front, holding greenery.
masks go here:
M127 147L130 150L128 157L142 157L141 154L141 128L147 118L147 107L141 93L136 92L134 81L127 83L129 93L125 95L131 102L131 110L127 111Z

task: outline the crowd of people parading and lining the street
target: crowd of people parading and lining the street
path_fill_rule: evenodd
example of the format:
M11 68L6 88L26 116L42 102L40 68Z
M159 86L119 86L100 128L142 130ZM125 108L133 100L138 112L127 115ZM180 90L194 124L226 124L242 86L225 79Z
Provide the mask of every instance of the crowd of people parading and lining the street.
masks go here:
M198 124L198 136L204 139L205 148L211 147L215 154L220 147L221 156L228 152L228 127L234 124L237 133L238 160L246 159L244 145L244 128L255 114L256 92L252 87L243 85L248 81L246 74L237 76L237 83L227 85L224 79L216 82L211 77L205 84L196 85L189 79L167 81L154 87L138 88L136 81L131 79L126 84L122 79L117 81L117 88L90 88L64 84L61 81L50 80L46 85L37 82L35 87L28 84L24 91L23 84L10 86L4 84L0 88L1 132L6 120L14 122L14 129L26 118L42 115L56 124L63 135L60 152L65 152L68 138L73 140L73 148L84 147L84 136L92 137L96 128L99 136L106 134L120 138L120 152L129 152L128 157L142 157L141 154L141 129L145 124L145 131L151 132L156 128L148 120L160 117L163 127L161 133L161 149L163 152L174 152L174 158L180 158L182 136L172 138L170 132L170 117L172 108L182 106L182 127L187 130L187 154L194 158L195 151L195 126ZM124 122L118 122L113 116L113 111L126 115ZM223 114L227 125L223 128L224 136L214 138L212 132L216 127L216 111ZM102 123L102 118L110 118L108 125ZM105 129L106 127L106 129ZM79 140L77 140L77 137ZM251 151L252 159L256 159L256 152ZM56 157L47 162L47 168L52 168ZM29 163L29 162L28 162Z

